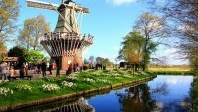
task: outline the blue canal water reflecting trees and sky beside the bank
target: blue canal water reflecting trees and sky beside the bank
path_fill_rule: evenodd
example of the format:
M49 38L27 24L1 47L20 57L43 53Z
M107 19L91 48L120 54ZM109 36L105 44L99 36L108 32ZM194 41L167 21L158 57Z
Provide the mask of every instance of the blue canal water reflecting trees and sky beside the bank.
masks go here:
M106 91L84 99L96 112L187 112L191 107L193 76L158 75L143 84ZM75 103L57 102L23 111L44 111ZM20 110L22 111L22 110Z

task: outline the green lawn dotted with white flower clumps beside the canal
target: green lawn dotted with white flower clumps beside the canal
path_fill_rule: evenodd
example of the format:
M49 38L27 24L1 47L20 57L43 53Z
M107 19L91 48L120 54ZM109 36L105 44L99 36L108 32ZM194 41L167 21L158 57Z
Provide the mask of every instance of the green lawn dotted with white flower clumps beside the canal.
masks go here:
M91 90L116 87L118 84L151 77L149 74L133 75L131 71L94 71L75 73L68 77L17 80L0 83L0 108L45 100L59 96L84 94ZM2 92L3 91L3 92ZM4 93L4 94L3 94ZM65 96L67 97L67 96Z

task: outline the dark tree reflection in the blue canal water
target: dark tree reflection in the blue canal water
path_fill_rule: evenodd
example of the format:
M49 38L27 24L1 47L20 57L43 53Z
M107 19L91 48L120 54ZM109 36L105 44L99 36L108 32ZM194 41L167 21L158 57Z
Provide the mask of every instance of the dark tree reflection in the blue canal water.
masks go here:
M149 112L156 108L147 84L130 87L125 93L116 93L116 95L122 105L121 110L125 112Z

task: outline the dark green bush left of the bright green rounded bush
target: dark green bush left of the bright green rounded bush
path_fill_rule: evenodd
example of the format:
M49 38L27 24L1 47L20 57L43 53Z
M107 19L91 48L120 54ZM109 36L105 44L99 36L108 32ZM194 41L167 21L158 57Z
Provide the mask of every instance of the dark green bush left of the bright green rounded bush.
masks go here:
M26 59L27 59L27 50L20 46L15 46L9 50L8 56L18 57L18 62L19 62L18 65L22 66L22 64L26 62Z

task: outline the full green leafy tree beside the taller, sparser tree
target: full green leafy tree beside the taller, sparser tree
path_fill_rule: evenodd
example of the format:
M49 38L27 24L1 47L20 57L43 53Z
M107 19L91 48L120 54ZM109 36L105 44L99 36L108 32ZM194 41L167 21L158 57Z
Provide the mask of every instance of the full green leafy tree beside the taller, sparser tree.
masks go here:
M119 51L117 59L124 59L130 63L140 64L143 58L144 44L145 39L139 32L129 32L121 43L122 48Z

